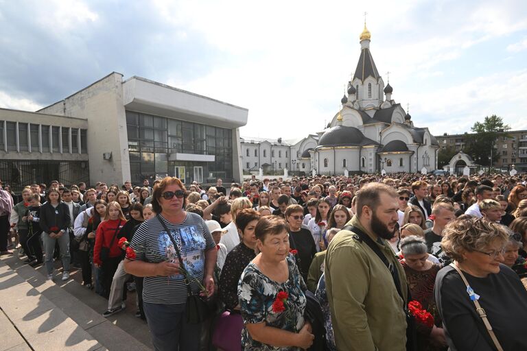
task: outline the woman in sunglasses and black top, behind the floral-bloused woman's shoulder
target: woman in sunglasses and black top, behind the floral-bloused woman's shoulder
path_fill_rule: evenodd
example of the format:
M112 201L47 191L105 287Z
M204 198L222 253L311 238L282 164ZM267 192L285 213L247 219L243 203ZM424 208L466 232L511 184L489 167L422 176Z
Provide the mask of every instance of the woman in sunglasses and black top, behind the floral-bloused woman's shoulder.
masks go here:
M311 232L302 228L304 219L304 208L300 205L289 205L285 209L285 221L289 225L289 243L291 253L294 256L298 270L304 281L307 281L309 266L316 254L316 245Z

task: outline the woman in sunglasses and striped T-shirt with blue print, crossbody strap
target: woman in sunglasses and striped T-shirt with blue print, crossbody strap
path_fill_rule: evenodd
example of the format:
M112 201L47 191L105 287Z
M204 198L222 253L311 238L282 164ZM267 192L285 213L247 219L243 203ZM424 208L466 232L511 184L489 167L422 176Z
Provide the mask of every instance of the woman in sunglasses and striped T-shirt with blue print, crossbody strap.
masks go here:
M209 296L214 291L214 240L203 219L185 212L184 204L185 186L178 178L156 184L152 208L159 215L137 228L124 262L126 272L145 277L143 307L156 350L199 350L201 324L185 317L187 295L202 287Z

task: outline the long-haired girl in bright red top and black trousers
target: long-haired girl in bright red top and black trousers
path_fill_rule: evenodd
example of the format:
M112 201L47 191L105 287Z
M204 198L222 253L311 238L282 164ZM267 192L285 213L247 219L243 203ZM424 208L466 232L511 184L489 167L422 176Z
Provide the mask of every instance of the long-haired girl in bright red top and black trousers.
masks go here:
M108 192L109 193L109 192ZM123 211L119 203L109 202L104 214L104 221L99 224L95 234L95 247L93 248L93 263L95 267L102 269L104 296L110 296L110 287L112 285L113 275L117 270L123 252L119 247L117 234L126 223ZM104 259L101 257L102 248L108 249L108 256Z

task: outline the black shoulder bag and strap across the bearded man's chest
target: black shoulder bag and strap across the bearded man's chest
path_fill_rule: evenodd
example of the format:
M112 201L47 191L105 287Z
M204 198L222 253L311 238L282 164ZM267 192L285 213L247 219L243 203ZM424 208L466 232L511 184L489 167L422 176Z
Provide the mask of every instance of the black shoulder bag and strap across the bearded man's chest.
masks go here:
M355 235L358 236L358 239L360 241L364 241L364 243L366 243L366 245L368 245L371 250L375 252L375 254L379 257L382 263L384 263L386 268L388 268L388 271L390 271L390 274L393 278L393 282L395 283L395 288L397 289L397 293L399 293L399 296L401 296L401 299L403 300L403 311L406 314L406 350L417 350L417 328L415 326L414 316L408 311L408 302L404 300L404 295L401 291L401 282L399 281L399 274L397 274L397 268L393 267L393 265L388 262L388 258L384 256L377 244L373 242L373 239L371 239L368 234L366 234L365 232L355 226L344 226L342 230L349 230L350 232L355 233ZM407 293L408 300L410 300L410 288L407 289Z

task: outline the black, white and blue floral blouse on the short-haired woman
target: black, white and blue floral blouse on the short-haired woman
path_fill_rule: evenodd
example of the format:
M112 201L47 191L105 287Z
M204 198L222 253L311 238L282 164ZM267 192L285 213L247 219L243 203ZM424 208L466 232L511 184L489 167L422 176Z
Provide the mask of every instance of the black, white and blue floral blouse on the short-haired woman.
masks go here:
M244 324L265 322L266 326L299 332L304 326L305 295L307 286L294 263L286 258L289 278L285 282L275 282L265 276L254 263L249 263L238 282L239 306ZM285 311L275 313L272 305L280 291L288 293ZM296 347L270 346L253 340L246 327L242 331L242 348L245 351L299 351Z

